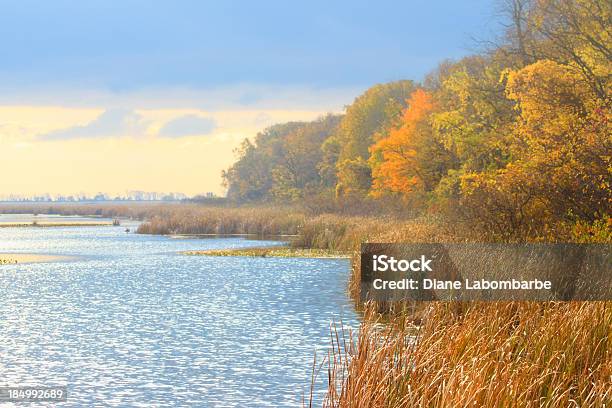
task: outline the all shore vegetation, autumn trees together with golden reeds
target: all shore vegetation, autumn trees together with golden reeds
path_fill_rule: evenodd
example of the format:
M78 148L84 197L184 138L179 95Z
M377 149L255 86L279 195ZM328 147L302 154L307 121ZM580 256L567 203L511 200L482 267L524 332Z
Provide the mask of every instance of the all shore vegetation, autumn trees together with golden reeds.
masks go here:
M362 242L609 244L611 4L504 2L511 24L486 51L265 129L223 174L236 208L38 210L144 220L142 234L290 236L350 254L356 302ZM612 401L609 301L358 306L360 330L332 332L330 407Z

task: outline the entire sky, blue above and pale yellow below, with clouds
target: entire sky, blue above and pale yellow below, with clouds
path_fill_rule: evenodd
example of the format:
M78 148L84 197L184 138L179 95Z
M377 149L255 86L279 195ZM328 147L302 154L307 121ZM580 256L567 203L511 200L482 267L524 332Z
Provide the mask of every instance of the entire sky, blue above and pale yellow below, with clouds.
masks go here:
M420 80L494 0L0 0L0 195L223 194L265 127Z

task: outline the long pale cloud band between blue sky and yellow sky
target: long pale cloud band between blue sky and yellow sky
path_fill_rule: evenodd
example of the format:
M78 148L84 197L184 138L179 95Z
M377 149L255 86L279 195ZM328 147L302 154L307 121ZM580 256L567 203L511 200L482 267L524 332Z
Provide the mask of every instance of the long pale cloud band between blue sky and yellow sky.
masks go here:
M0 105L61 106L64 108L190 109L207 112L227 110L310 110L340 112L367 86L321 88L242 83L210 88L153 87L115 92L78 87L7 87L0 81Z

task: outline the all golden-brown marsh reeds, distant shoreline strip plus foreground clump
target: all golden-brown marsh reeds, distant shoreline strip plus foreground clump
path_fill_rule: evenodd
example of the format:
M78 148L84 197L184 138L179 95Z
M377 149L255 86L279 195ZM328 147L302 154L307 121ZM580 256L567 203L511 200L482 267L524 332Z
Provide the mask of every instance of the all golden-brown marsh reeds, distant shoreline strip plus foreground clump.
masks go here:
M292 248L352 255L356 302L362 242L486 240L432 216L196 205L48 211L144 219L138 232L148 234L295 235ZM369 304L362 314L357 332L332 329L328 356L313 365L313 387L315 375L327 379L327 407L612 406L612 302Z

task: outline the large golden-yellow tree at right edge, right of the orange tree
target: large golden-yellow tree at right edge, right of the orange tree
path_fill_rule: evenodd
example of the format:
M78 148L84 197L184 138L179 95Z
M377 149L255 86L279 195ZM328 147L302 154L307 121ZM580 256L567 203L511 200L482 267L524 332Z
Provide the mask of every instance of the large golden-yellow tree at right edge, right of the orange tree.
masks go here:
M612 204L609 106L571 67L542 60L508 76L517 102L516 156L534 168L559 216L594 220Z

